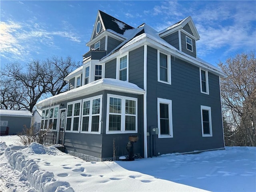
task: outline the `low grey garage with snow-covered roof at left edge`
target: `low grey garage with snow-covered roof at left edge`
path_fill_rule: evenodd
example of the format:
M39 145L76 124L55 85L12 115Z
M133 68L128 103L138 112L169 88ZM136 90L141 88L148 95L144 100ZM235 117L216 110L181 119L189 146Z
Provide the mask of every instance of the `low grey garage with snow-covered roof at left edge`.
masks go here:
M30 128L32 114L25 110L0 109L1 132L9 127L9 135L15 135L23 131L24 125Z

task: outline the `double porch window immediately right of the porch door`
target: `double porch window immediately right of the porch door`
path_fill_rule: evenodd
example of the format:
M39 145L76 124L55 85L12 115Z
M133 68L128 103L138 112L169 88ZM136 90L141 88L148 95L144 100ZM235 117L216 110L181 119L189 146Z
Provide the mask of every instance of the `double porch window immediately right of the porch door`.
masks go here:
M79 132L81 103L78 100L67 104L66 131Z

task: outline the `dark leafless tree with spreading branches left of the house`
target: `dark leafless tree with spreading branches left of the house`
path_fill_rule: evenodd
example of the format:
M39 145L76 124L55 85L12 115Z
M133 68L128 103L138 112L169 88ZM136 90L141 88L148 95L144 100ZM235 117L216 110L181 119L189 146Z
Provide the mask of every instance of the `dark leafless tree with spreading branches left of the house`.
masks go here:
M64 78L77 68L79 62L70 57L52 57L33 60L23 65L18 62L7 64L1 70L1 108L29 110L45 95L56 95L67 90Z

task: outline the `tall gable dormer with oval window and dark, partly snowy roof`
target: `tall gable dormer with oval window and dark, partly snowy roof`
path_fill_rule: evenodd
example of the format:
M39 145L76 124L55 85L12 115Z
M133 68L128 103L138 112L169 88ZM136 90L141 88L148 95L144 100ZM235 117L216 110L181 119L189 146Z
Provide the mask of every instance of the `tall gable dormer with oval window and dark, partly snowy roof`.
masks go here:
M126 39L124 32L129 29L133 27L98 10L91 39L86 46L90 50L106 51L108 54Z

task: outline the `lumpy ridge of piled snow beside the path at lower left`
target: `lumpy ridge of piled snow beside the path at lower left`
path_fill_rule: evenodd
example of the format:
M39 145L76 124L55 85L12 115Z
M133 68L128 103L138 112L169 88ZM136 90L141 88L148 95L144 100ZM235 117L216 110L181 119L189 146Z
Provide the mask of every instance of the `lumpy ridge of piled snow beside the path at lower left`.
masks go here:
M6 148L4 142L0 143L0 148ZM5 156L14 169L19 170L20 180L28 180L32 187L39 192L74 192L68 182L54 179L54 174L45 170L40 170L38 164L30 159L25 160L23 152L35 154L56 154L38 143L32 143L30 146L8 146L5 150Z

